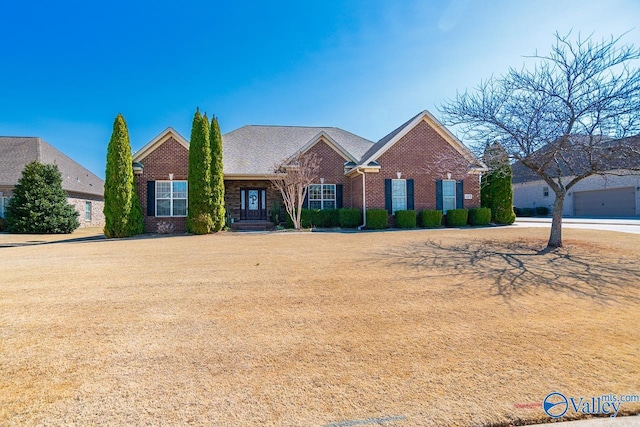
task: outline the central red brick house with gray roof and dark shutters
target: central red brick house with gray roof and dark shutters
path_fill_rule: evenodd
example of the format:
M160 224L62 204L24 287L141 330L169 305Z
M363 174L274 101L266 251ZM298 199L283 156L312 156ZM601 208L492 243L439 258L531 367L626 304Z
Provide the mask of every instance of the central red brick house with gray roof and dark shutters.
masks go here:
M234 222L267 221L281 204L270 178L295 154L316 153L318 180L305 207L386 209L471 208L480 205L486 167L423 111L378 142L334 127L243 126L222 136L227 214ZM161 222L185 230L189 143L167 128L133 156L145 227Z

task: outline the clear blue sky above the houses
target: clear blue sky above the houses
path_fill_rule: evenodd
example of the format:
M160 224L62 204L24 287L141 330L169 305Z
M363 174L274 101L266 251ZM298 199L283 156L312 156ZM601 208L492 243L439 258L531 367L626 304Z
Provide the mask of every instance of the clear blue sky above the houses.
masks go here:
M104 177L113 120L132 149L197 106L222 132L337 126L378 140L553 33L640 44L640 2L76 1L0 3L0 135L39 136Z

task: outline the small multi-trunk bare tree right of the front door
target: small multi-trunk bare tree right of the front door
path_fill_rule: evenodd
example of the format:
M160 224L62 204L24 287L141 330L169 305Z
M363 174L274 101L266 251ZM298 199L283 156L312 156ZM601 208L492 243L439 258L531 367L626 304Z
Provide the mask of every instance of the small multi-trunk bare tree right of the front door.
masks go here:
M309 185L318 178L320 160L315 153L298 153L277 165L276 176L271 178L273 187L282 195L285 210L296 230L300 229L302 203Z

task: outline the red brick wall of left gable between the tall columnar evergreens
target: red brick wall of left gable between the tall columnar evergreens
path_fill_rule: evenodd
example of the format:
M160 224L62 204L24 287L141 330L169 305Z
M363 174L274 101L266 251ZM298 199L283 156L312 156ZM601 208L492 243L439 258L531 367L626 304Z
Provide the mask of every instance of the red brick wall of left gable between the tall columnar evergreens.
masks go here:
M147 181L168 180L170 173L176 181L186 180L189 170L189 150L173 137L169 137L145 158L140 159L140 163L144 168L142 174L136 175L135 180L144 215L145 231L155 233L161 222L173 224L175 232L186 231L184 217L147 217L147 203L155 203L154 200L147 200Z

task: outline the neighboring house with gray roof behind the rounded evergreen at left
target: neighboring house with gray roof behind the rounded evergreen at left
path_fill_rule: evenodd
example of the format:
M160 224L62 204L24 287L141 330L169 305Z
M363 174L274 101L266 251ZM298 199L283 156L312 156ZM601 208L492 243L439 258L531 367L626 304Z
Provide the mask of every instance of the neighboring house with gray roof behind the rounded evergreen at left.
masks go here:
M67 200L78 211L80 227L104 226L104 181L46 141L34 137L0 137L0 216L25 165L56 164Z

